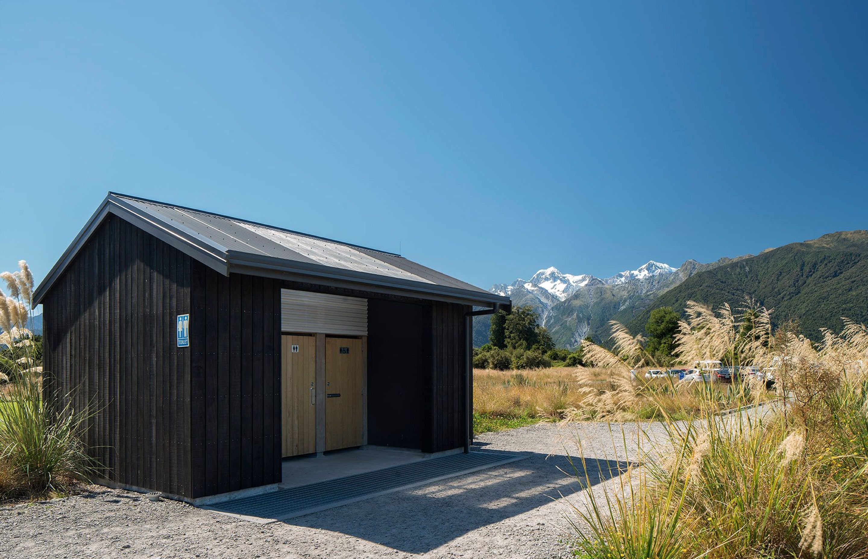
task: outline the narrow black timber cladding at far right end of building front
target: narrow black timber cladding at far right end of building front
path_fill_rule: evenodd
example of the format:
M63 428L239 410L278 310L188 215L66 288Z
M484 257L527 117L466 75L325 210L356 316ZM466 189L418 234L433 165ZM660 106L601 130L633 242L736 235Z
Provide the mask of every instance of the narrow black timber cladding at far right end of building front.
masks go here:
M434 302L431 307L431 452L464 446L464 313L472 307Z

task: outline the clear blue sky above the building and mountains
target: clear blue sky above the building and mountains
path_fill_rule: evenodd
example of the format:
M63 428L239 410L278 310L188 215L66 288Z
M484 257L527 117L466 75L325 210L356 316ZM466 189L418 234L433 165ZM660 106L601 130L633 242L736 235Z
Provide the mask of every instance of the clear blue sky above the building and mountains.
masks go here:
M0 270L109 190L479 286L868 227L868 4L0 3Z

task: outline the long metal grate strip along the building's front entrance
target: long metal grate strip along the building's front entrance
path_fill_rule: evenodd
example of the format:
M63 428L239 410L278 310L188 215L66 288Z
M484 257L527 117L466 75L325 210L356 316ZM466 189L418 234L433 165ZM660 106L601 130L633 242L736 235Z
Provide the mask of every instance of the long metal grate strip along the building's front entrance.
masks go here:
M448 457L430 458L383 470L277 490L264 495L233 499L203 508L233 515L251 516L251 520L265 522L285 520L414 485L431 483L445 477L509 464L524 457L507 452L453 454Z

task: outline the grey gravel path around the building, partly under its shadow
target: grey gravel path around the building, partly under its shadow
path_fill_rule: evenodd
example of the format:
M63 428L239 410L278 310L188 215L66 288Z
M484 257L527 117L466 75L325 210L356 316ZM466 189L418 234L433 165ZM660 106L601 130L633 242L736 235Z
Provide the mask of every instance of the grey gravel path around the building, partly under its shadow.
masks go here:
M477 438L527 459L286 523L255 524L185 503L93 487L0 508L0 557L561 557L582 442L596 492L635 459L635 424L536 424ZM567 499L559 497L561 494ZM569 497L572 496L572 497Z

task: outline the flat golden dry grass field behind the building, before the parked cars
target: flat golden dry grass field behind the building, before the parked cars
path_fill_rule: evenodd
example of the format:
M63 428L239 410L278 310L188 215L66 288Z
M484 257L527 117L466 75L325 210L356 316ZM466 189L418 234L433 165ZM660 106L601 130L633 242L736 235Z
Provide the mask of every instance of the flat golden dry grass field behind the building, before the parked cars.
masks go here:
M645 380L611 369L553 367L473 372L474 432L503 431L539 421L680 420L709 399L720 410L744 400L746 385L689 385ZM768 398L772 396L769 395Z

